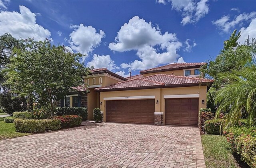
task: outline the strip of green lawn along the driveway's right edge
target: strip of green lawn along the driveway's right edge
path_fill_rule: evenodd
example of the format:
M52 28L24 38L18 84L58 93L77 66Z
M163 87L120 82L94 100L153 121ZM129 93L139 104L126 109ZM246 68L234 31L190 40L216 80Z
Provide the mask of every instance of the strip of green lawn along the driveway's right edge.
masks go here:
M202 135L206 168L242 168L233 156L226 137Z

